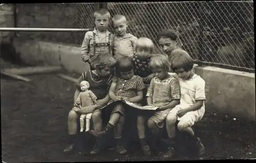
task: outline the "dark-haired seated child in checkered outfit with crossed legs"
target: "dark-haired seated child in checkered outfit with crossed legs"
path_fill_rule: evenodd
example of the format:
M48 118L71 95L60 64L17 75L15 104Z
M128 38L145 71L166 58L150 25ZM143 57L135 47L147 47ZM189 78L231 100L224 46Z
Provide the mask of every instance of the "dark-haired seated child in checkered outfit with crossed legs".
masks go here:
M134 64L131 57L124 56L117 60L117 76L113 78L110 86L109 96L112 103L117 100L125 100L140 106L139 102L143 98L142 90L145 88L143 80L134 75ZM101 131L90 132L95 136L101 136L115 127L114 136L117 142L117 152L126 153L126 149L121 145L122 128L124 124L125 110L123 104L116 104L112 110L108 125Z

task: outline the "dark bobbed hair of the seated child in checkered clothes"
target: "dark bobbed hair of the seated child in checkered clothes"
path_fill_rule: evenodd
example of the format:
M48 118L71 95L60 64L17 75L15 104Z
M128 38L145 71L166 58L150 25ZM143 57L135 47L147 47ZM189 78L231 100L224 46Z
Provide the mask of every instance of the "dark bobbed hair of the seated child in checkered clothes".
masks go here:
M135 64L131 57L123 56L119 58L116 62L116 72L120 76L120 72L129 72L134 70Z

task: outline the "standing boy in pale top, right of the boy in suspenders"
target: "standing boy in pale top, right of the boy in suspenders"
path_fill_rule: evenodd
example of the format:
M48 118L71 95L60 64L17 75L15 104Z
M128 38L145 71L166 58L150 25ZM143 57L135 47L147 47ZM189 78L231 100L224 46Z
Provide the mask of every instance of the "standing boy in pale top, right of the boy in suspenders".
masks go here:
M122 56L133 56L138 38L126 32L128 22L125 16L119 14L114 15L112 24L116 33L113 36L113 56L116 59Z

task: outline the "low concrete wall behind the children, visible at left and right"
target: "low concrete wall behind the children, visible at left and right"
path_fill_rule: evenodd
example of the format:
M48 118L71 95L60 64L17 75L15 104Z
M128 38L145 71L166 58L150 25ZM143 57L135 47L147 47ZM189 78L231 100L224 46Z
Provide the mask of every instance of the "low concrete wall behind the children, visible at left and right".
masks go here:
M25 63L62 65L76 73L89 69L89 65L81 60L77 45L19 38L14 40L13 45ZM206 82L206 111L214 110L255 121L255 74L197 65L195 71Z

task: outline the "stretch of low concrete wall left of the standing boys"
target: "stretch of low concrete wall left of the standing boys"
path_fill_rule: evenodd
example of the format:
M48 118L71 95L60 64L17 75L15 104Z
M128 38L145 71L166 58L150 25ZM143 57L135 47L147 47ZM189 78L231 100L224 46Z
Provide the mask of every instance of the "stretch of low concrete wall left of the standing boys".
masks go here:
M81 60L80 47L76 44L16 38L13 45L20 60L27 64L62 65L68 71L77 73L82 73L90 67Z

